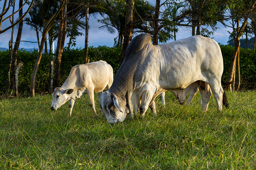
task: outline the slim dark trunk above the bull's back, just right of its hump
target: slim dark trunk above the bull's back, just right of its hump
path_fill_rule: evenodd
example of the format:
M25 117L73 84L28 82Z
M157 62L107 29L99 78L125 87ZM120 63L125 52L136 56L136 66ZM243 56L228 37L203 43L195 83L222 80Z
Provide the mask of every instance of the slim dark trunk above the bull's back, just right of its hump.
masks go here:
M153 45L158 45L158 33L159 33L159 14L160 14L160 0L156 0L155 3L155 15L154 15L154 32L153 32Z

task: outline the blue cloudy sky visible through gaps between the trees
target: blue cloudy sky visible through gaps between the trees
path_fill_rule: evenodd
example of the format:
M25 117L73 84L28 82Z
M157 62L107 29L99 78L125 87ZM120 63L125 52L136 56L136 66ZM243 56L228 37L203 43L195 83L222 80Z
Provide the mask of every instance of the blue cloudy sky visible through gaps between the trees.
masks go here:
M155 5L155 0L149 1L152 5ZM161 1L162 2L162 1ZM1 4L0 4L1 7ZM96 15L97 19L102 18L100 15ZM106 46L114 46L114 38L117 37L118 32L115 31L114 34L109 33L108 31L102 30L99 27L102 25L97 22L97 19L93 16L89 16L89 46L97 47L99 45L106 45ZM2 23L1 29L6 28L6 26L9 24L9 20L6 20ZM231 31L231 28L225 28L222 24L217 25L218 29L214 32L211 38L216 40L220 44L227 44L229 33L228 31ZM16 37L16 32L18 30L18 27L15 27L14 31L14 41ZM84 31L84 30L82 30ZM85 31L84 31L85 32ZM191 29L185 28L185 27L179 27L179 31L177 32L176 39L184 39L186 37L191 36ZM8 42L11 37L11 29L9 31L6 31L0 35L0 48L8 48ZM23 24L23 32L22 32L22 41L33 41L36 42L36 32L32 30L28 25ZM67 42L69 40L65 40L65 44L67 45ZM76 46L75 48L84 48L84 36L77 37L76 40ZM174 41L174 40L170 40ZM168 42L170 42L168 41ZM20 42L20 48L26 48L26 49L38 49L38 43L31 43L31 42ZM55 42L55 48L56 48L56 42Z

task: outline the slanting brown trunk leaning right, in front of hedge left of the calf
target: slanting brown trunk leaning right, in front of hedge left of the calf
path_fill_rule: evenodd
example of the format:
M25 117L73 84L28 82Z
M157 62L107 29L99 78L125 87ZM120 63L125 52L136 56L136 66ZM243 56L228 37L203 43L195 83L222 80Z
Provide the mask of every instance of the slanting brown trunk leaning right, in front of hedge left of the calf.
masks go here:
M40 63L40 60L41 60L42 54L43 54L44 41L46 41L46 33L43 33L43 35L42 35L40 48L39 48L39 52L38 52L38 58L36 59L34 70L32 73L31 84L30 84L30 97L35 96L35 79L36 79L36 73L38 72L39 63Z

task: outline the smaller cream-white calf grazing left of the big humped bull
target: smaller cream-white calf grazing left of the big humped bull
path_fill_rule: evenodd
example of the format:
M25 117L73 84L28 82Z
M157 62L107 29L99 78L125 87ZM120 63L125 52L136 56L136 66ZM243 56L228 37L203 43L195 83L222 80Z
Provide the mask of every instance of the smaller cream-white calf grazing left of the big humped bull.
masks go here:
M86 63L84 65L74 66L64 84L61 87L56 87L52 94L51 109L56 110L70 99L68 116L71 116L73 105L77 98L88 93L89 103L94 108L94 92L98 98L105 89L113 83L113 69L105 61L96 61Z

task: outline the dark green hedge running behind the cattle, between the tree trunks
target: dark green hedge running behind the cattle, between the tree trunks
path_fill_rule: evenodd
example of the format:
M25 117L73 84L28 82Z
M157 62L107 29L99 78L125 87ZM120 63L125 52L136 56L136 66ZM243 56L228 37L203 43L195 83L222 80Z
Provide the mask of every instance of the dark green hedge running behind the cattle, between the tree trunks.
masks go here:
M220 45L222 56L224 59L224 74L222 79L228 80L229 67L233 56L234 48L230 45ZM121 48L111 48L108 46L98 46L97 48L90 46L88 51L90 62L105 60L112 65L114 74L119 67L119 58L121 56ZM23 61L24 65L19 73L19 93L28 95L30 90L30 80L34 69L38 51L28 52L19 50L18 62ZM35 92L44 93L48 91L49 86L49 59L51 56L44 54L36 74ZM250 49L240 49L240 67L241 67L241 88L255 89L255 57L256 52ZM64 49L61 61L61 80L63 84L69 75L69 71L75 65L82 64L84 61L84 49ZM6 92L7 70L9 66L9 51L0 51L0 94Z

